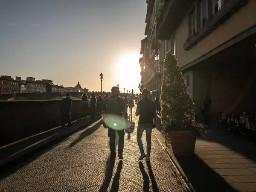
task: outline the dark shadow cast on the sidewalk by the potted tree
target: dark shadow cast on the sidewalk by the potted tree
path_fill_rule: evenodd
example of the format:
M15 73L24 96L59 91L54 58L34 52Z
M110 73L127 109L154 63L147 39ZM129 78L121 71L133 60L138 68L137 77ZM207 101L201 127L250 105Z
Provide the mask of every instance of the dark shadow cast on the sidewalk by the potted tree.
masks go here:
M236 189L195 154L190 157L175 157L196 192L236 192Z

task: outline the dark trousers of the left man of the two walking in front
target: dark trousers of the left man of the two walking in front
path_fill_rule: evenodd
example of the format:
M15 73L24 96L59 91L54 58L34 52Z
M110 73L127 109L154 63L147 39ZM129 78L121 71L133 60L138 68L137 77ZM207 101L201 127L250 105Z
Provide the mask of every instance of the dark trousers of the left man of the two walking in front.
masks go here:
M125 130L115 130L112 128L108 128L109 147L110 147L111 155L116 154L116 131L119 136L117 152L118 154L122 154L124 150Z

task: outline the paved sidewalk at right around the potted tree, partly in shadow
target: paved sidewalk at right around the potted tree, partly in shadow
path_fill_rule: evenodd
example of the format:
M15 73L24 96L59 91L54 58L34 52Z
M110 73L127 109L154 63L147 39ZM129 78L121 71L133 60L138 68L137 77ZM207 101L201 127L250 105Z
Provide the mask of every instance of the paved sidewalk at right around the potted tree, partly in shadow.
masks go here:
M157 137L164 142L160 131ZM197 139L192 157L175 156L172 148L167 151L196 192L256 191L256 145L247 138L212 128Z

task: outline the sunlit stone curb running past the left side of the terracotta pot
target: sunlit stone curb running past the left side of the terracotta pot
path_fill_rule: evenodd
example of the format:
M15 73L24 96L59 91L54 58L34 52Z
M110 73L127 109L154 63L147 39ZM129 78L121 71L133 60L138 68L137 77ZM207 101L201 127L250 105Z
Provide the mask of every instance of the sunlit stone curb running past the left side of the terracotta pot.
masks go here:
M157 115L158 118L161 119L161 117L159 115ZM154 131L154 129L153 129ZM172 148L166 148L166 145L163 144L160 139L157 137L157 134L154 131L154 135L157 138L157 140L159 141L160 145L163 147L164 151L166 151L166 153L168 154L168 156L171 158L172 163L174 164L175 168L178 170L178 172L180 173L181 177L184 179L184 181L186 182L187 186L189 187L189 190L191 192L195 192L195 189L192 187L191 183L189 182L188 177L186 177L185 173L183 172L183 169L181 168L180 164L178 163L177 159L175 158L174 154L172 153Z

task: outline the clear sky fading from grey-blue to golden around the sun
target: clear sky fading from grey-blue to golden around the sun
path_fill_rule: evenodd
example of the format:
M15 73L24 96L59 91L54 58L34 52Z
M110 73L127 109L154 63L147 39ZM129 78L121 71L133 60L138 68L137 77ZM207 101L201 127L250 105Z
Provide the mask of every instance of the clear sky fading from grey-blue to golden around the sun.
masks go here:
M146 0L0 0L0 75L138 90Z

